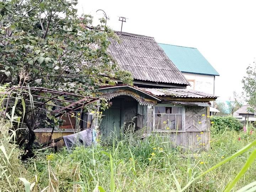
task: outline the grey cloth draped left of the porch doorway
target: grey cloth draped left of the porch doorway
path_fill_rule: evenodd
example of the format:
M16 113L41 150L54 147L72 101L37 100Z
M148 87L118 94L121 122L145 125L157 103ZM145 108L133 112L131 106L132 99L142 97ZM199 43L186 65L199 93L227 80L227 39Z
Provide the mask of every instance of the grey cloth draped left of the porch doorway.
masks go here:
M81 132L63 136L68 151L75 146L90 146L92 143L92 130L86 129Z

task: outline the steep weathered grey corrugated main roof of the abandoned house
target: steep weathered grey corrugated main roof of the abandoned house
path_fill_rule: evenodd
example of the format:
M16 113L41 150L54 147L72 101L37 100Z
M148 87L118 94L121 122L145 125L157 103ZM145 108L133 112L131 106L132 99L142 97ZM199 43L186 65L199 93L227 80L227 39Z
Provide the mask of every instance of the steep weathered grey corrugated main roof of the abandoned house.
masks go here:
M120 43L110 39L108 52L122 70L137 80L189 85L153 37L117 32Z

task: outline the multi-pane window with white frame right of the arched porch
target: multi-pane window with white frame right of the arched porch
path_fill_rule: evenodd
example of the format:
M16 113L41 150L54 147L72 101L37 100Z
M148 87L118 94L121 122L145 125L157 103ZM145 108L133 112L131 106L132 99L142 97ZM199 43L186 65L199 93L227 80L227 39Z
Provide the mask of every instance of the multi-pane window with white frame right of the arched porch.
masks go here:
M182 130L183 107L155 106L155 130Z

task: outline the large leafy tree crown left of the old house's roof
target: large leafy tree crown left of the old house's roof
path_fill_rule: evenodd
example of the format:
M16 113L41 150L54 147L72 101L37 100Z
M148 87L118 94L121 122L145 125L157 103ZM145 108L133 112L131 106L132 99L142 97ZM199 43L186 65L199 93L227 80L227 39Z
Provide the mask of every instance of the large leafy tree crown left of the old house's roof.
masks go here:
M91 26L90 15L79 18L76 4L77 0L0 2L0 82L22 85L18 74L25 70L30 86L73 92L83 88L89 94L102 80L114 83L110 78L119 70L106 50L109 39L117 37L105 25Z

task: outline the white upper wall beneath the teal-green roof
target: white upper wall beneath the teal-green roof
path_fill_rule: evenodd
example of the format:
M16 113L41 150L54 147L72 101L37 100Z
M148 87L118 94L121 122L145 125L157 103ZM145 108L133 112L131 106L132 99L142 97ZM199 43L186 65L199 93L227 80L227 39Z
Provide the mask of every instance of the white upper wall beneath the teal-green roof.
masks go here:
M208 94L214 94L214 76L182 73L191 86L187 89L202 91Z

